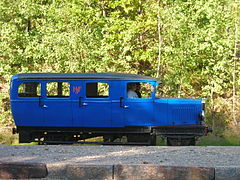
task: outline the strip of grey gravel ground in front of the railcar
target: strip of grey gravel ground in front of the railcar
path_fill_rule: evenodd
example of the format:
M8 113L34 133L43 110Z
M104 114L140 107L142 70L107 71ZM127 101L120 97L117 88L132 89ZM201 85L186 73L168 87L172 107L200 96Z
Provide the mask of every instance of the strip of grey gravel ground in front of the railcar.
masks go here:
M240 167L240 147L0 145L0 162Z

